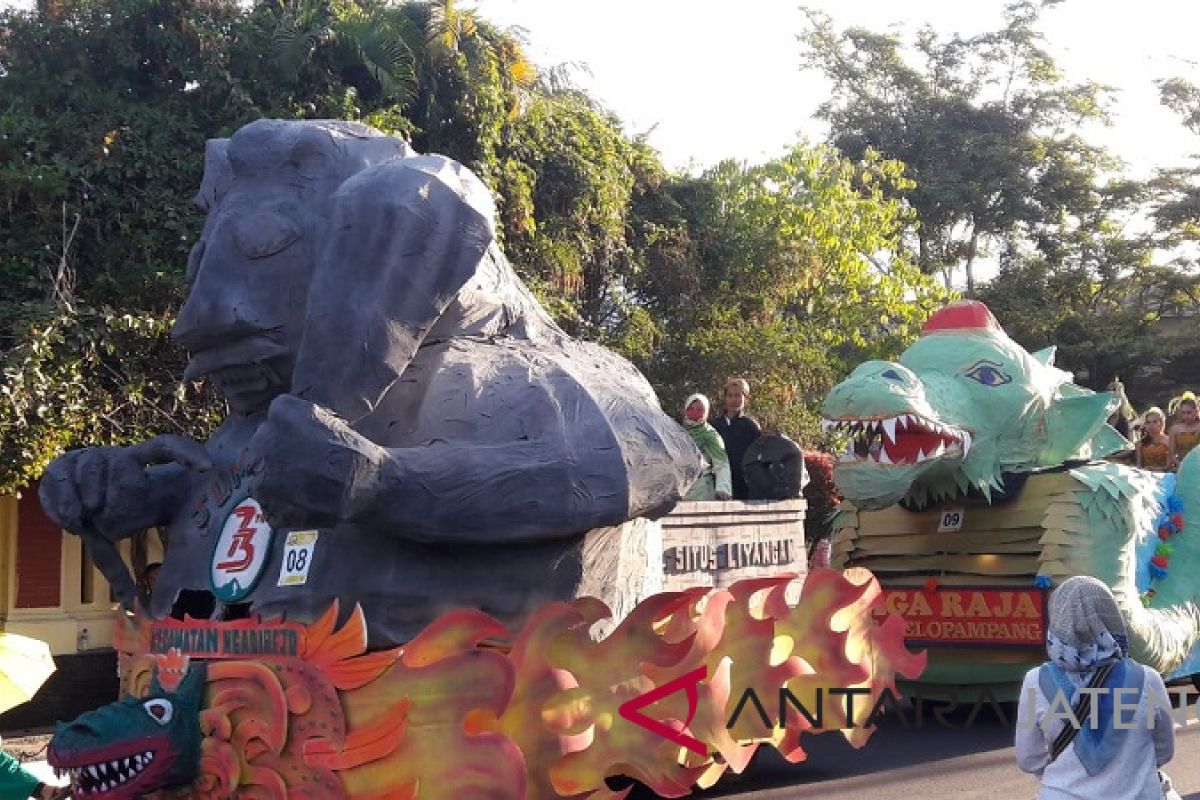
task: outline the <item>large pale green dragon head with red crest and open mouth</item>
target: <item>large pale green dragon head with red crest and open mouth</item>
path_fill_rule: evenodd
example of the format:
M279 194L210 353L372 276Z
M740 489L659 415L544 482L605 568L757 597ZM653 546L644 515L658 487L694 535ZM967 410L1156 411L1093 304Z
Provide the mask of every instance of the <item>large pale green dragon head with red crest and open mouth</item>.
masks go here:
M1105 420L1117 401L1072 383L1054 348L1028 353L985 305L934 314L899 361L868 361L826 398L826 426L852 445L834 467L860 509L917 506L978 489L1006 473L1099 458L1128 445Z

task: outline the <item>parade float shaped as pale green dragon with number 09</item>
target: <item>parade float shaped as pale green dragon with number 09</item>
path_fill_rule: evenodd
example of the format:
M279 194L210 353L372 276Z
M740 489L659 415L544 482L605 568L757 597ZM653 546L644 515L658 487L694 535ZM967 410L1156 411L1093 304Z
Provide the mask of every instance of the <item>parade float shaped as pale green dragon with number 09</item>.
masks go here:
M1112 588L1134 658L1200 673L1200 456L1177 475L1100 461L1129 446L1115 405L973 301L829 393L826 426L850 438L834 565L878 576L881 608L928 649L922 684L1010 697L1045 658L1050 589L1075 575Z

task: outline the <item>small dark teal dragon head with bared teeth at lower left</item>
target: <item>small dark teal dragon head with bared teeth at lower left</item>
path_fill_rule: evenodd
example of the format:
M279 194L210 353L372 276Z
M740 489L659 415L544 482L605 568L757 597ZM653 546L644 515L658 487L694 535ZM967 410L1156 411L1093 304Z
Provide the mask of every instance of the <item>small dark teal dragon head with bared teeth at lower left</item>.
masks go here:
M175 680L151 681L144 697L126 694L74 722L59 724L47 760L71 778L72 796L127 800L190 783L200 763L205 666ZM166 686L164 686L166 684Z

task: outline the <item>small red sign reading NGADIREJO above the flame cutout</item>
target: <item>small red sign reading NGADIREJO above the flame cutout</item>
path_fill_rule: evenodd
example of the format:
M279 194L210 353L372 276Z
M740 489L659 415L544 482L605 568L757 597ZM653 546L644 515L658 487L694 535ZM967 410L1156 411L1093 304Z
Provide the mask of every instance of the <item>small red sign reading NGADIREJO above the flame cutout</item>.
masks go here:
M150 652L179 650L192 658L299 658L304 633L304 626L295 622L163 620L150 627Z

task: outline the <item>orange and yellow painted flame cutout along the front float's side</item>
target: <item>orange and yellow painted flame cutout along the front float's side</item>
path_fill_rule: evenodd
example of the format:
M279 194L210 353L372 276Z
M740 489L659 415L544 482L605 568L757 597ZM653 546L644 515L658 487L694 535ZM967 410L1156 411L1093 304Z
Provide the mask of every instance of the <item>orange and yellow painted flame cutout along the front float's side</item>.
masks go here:
M210 664L193 790L247 800L620 800L629 790L605 778L626 775L678 798L740 772L761 744L798 762L802 734L839 728L860 747L880 693L895 690L896 675L919 676L925 655L906 649L902 619L872 616L881 591L869 572L816 570L798 603L787 600L791 584L785 575L655 595L602 640L589 631L610 612L592 599L546 606L515 634L460 609L403 646L370 654L361 608L338 627L335 603L306 626L299 657ZM178 685L186 673L179 652L145 655L144 621L122 620L114 636L131 686L149 686L151 672ZM704 676L694 691L636 703L689 673ZM829 688L868 694L847 715ZM768 720L743 702L749 690ZM812 718L779 711L781 691ZM619 712L626 704L721 758L631 722Z

